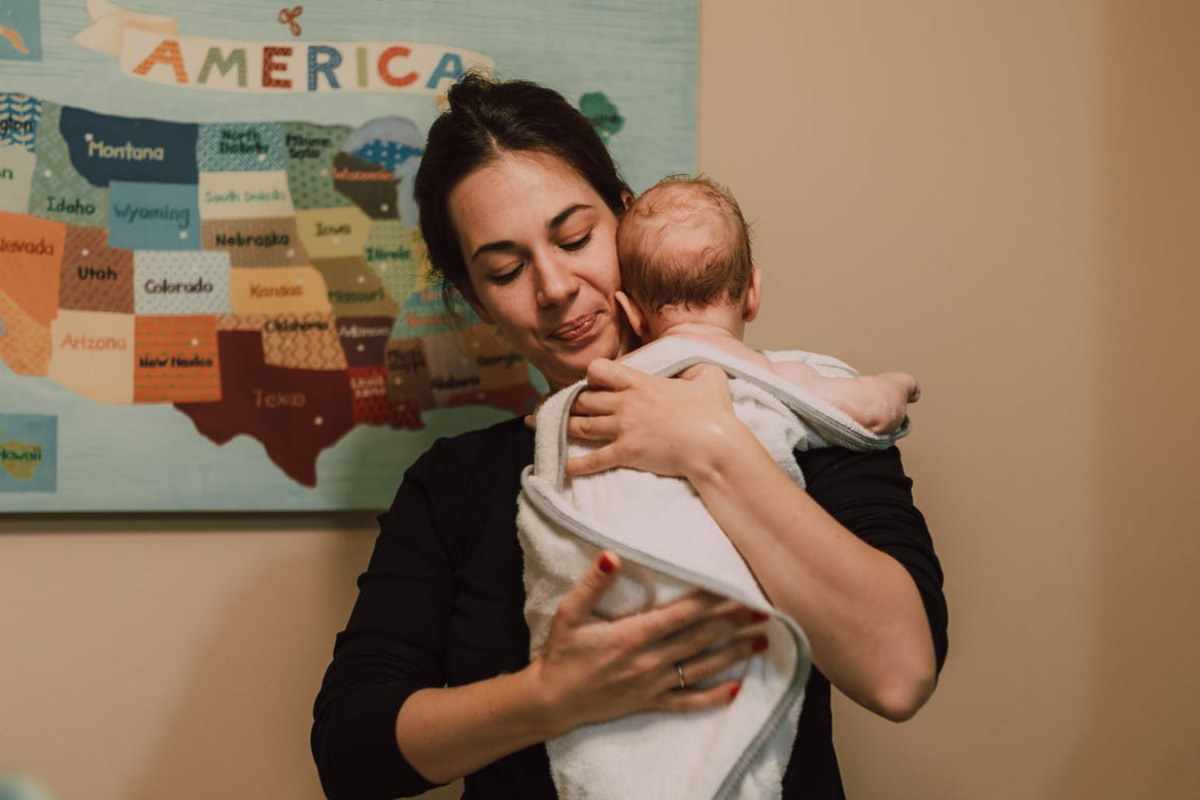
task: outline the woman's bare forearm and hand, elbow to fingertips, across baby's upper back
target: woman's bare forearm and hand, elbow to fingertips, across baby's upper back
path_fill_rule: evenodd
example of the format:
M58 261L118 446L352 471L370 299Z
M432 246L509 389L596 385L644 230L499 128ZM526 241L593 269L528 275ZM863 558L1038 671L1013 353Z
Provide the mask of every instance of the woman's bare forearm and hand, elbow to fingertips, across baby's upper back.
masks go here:
M593 361L568 433L604 444L570 459L568 474L628 467L688 479L767 596L804 627L821 672L888 718L914 714L937 658L907 570L792 482L737 419L724 372L697 365L680 378Z

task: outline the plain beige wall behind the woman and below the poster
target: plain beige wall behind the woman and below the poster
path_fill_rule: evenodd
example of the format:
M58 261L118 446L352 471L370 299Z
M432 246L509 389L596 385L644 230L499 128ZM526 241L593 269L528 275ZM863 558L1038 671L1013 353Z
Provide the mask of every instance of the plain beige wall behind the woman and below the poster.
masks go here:
M701 167L760 347L917 373L952 650L846 702L859 800L1190 798L1200 769L1200 6L703 0ZM60 799L319 798L366 516L0 518L0 769Z

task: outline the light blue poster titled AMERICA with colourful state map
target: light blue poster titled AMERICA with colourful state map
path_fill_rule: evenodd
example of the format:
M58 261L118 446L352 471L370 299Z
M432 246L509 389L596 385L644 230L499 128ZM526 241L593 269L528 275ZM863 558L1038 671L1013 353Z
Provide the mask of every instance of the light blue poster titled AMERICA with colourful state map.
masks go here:
M427 276L466 71L635 191L695 168L695 0L0 0L0 510L383 509L545 381Z

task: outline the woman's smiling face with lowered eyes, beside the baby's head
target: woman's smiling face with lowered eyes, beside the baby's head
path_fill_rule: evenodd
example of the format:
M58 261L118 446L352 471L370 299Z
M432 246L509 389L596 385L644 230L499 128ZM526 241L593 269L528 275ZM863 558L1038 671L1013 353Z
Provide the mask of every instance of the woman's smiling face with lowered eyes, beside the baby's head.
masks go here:
M506 152L455 187L449 206L470 278L463 294L552 387L617 355L617 217L578 173Z

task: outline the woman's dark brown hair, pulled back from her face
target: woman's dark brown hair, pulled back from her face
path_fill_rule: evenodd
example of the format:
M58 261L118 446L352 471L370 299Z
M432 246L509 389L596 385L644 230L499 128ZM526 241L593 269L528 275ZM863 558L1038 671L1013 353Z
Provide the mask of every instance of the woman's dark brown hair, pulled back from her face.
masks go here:
M494 80L469 72L450 88L449 108L430 126L413 192L430 264L451 306L454 290L470 291L458 233L450 221L450 192L503 152L560 158L620 216L629 186L583 114L552 89L528 80Z

